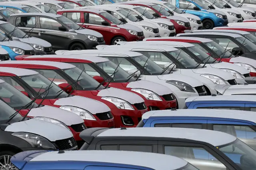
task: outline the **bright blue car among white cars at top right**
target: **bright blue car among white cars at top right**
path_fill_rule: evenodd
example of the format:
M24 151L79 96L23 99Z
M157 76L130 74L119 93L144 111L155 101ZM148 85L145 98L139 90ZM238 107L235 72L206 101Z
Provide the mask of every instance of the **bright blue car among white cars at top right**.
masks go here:
M228 17L220 10L211 10L200 0L169 0L184 12L194 14L202 20L203 29L212 29L228 25Z

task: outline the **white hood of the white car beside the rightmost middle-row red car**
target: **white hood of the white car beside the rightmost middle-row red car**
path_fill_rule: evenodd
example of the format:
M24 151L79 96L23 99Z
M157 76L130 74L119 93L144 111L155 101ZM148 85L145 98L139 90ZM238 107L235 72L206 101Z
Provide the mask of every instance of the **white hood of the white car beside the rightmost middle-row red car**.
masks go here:
M218 69L232 69L242 75L250 73L246 68L236 64L232 64L232 63L220 62L220 63L207 64L207 65L210 65L211 67L218 68Z

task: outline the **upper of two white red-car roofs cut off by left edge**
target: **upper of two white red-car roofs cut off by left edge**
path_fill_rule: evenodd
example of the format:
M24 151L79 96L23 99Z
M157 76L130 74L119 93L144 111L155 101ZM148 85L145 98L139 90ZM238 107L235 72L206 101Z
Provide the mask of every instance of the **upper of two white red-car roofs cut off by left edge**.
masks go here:
M26 61L26 60L11 60L0 62L0 64L33 64L33 65L47 65L52 67L57 67L59 69L70 69L76 66L69 63L60 63L54 61ZM4 67L5 68L5 67Z

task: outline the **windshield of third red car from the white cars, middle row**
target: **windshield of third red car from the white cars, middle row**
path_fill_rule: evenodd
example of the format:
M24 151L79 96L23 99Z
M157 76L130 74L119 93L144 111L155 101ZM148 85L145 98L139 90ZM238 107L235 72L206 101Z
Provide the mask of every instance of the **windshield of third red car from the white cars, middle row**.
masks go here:
M59 98L64 98L68 96L68 94L62 91L60 87L52 83L49 79L41 74L22 76L20 78L34 90L35 95L42 93L39 98L44 98L45 95L47 95L46 99L54 99L60 93L61 95L59 95ZM50 89L49 86L51 87ZM46 91L47 89L49 90Z

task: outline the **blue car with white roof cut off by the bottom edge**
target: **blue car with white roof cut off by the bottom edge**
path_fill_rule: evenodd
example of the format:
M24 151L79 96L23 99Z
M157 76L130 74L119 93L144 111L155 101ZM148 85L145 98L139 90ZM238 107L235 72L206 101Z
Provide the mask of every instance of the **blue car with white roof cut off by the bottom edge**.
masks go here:
M106 155L108 156L106 157ZM120 158L124 159L121 160ZM51 162L50 164L45 164L45 162L49 161ZM77 152L34 150L16 154L10 159L10 162L19 170L27 168L36 170L37 167L48 168L49 165L56 170L60 170L69 166L70 163L75 165L70 170L91 170L94 168L99 170L109 170L110 168L116 170L180 170L180 168L198 170L185 160L175 156L116 150L79 150Z

